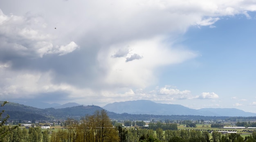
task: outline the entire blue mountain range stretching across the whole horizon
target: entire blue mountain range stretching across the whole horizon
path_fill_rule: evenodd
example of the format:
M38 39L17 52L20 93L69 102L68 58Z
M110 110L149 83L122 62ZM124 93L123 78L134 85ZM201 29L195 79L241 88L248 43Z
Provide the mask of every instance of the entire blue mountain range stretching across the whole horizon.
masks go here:
M0 102L2 104L2 102ZM39 109L14 102L9 102L4 109L11 120L47 120L81 118L92 115L96 110L106 109L113 120L190 120L190 119L227 119L230 117L250 117L256 119L256 113L249 113L239 109L190 109L178 104L160 104L149 100L114 102L106 106L79 105L67 103L56 108Z

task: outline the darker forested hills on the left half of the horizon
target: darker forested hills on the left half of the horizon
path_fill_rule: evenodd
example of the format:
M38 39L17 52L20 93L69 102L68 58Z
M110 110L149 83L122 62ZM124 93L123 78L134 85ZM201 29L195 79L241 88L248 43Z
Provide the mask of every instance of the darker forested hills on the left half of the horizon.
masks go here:
M2 104L3 101L0 101ZM14 102L9 102L0 107L0 111L4 110L3 116L10 115L9 120L50 120L66 119L66 118L81 118L85 115L92 115L96 110L101 110L99 106L73 106L62 109L38 109L31 106L25 106Z

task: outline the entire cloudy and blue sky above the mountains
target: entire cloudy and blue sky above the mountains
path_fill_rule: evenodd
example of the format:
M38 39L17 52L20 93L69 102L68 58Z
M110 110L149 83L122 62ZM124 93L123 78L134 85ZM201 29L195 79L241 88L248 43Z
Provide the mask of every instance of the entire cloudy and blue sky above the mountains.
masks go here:
M256 113L255 33L255 0L1 0L0 100Z

